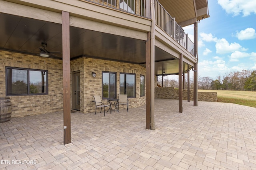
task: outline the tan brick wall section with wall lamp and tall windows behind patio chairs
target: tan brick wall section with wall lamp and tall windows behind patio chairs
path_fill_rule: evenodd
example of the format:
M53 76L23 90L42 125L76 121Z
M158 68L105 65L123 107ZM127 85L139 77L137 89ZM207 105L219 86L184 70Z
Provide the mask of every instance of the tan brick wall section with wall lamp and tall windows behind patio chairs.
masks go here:
M73 66L76 66L76 69ZM84 69L82 68L83 66ZM120 73L136 74L136 98L129 98L129 107L138 107L146 104L146 96L140 96L140 75L146 76L146 68L138 64L83 57L72 60L71 67L72 71L78 71L80 69L80 81L84 81L81 82L83 86L80 86L81 91L83 89L83 92L80 94L80 103L84 105L81 105L82 107L80 106L82 113L95 111L95 104L92 101L94 100L94 95L102 96L102 71L116 72L117 97L120 94ZM92 72L96 73L96 77L92 77ZM124 108L124 106L120 107Z

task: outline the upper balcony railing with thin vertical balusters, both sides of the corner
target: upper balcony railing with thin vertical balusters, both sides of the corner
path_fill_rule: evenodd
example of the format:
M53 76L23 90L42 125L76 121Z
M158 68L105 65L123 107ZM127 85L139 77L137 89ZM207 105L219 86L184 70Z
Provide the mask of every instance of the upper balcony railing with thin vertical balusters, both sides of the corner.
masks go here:
M101 4L110 8L129 12L131 14L146 15L146 1L148 0L86 0ZM180 45L194 54L194 43L189 39L182 27L178 25L175 18L164 9L164 7L155 0L156 25L163 29L168 35L175 39Z

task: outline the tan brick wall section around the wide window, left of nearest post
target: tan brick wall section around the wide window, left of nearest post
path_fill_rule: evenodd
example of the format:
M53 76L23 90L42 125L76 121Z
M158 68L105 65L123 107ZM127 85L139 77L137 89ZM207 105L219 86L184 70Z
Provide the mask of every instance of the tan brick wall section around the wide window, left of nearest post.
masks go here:
M6 97L5 67L48 70L48 95L8 96L12 117L62 110L62 61L8 51L0 51L0 97Z

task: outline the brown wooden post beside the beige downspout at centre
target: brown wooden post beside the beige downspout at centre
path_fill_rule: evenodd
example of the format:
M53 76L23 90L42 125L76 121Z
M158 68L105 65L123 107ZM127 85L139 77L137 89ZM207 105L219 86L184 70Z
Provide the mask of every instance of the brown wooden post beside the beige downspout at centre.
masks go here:
M146 129L150 129L150 104L151 104L151 43L150 43L150 32L147 33L146 41Z

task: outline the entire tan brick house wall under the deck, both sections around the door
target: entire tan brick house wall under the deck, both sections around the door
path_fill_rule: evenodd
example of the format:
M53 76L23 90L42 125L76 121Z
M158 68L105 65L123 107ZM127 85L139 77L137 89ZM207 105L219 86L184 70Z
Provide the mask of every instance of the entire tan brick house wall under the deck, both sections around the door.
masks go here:
M48 70L48 95L8 96L12 104L12 117L63 110L62 60L0 51L1 98L6 97L6 66ZM82 57L70 61L70 70L71 80L73 72L80 72L80 111L82 113L95 111L93 95L102 96L102 71L116 72L117 94L120 91L120 72L136 74L136 98L129 98L129 107L146 104L146 96L140 97L140 74L146 76L146 68L138 64ZM92 77L92 72L96 72L96 77ZM72 88L72 81L70 84ZM72 93L70 95L72 99ZM72 106L72 100L70 104Z

